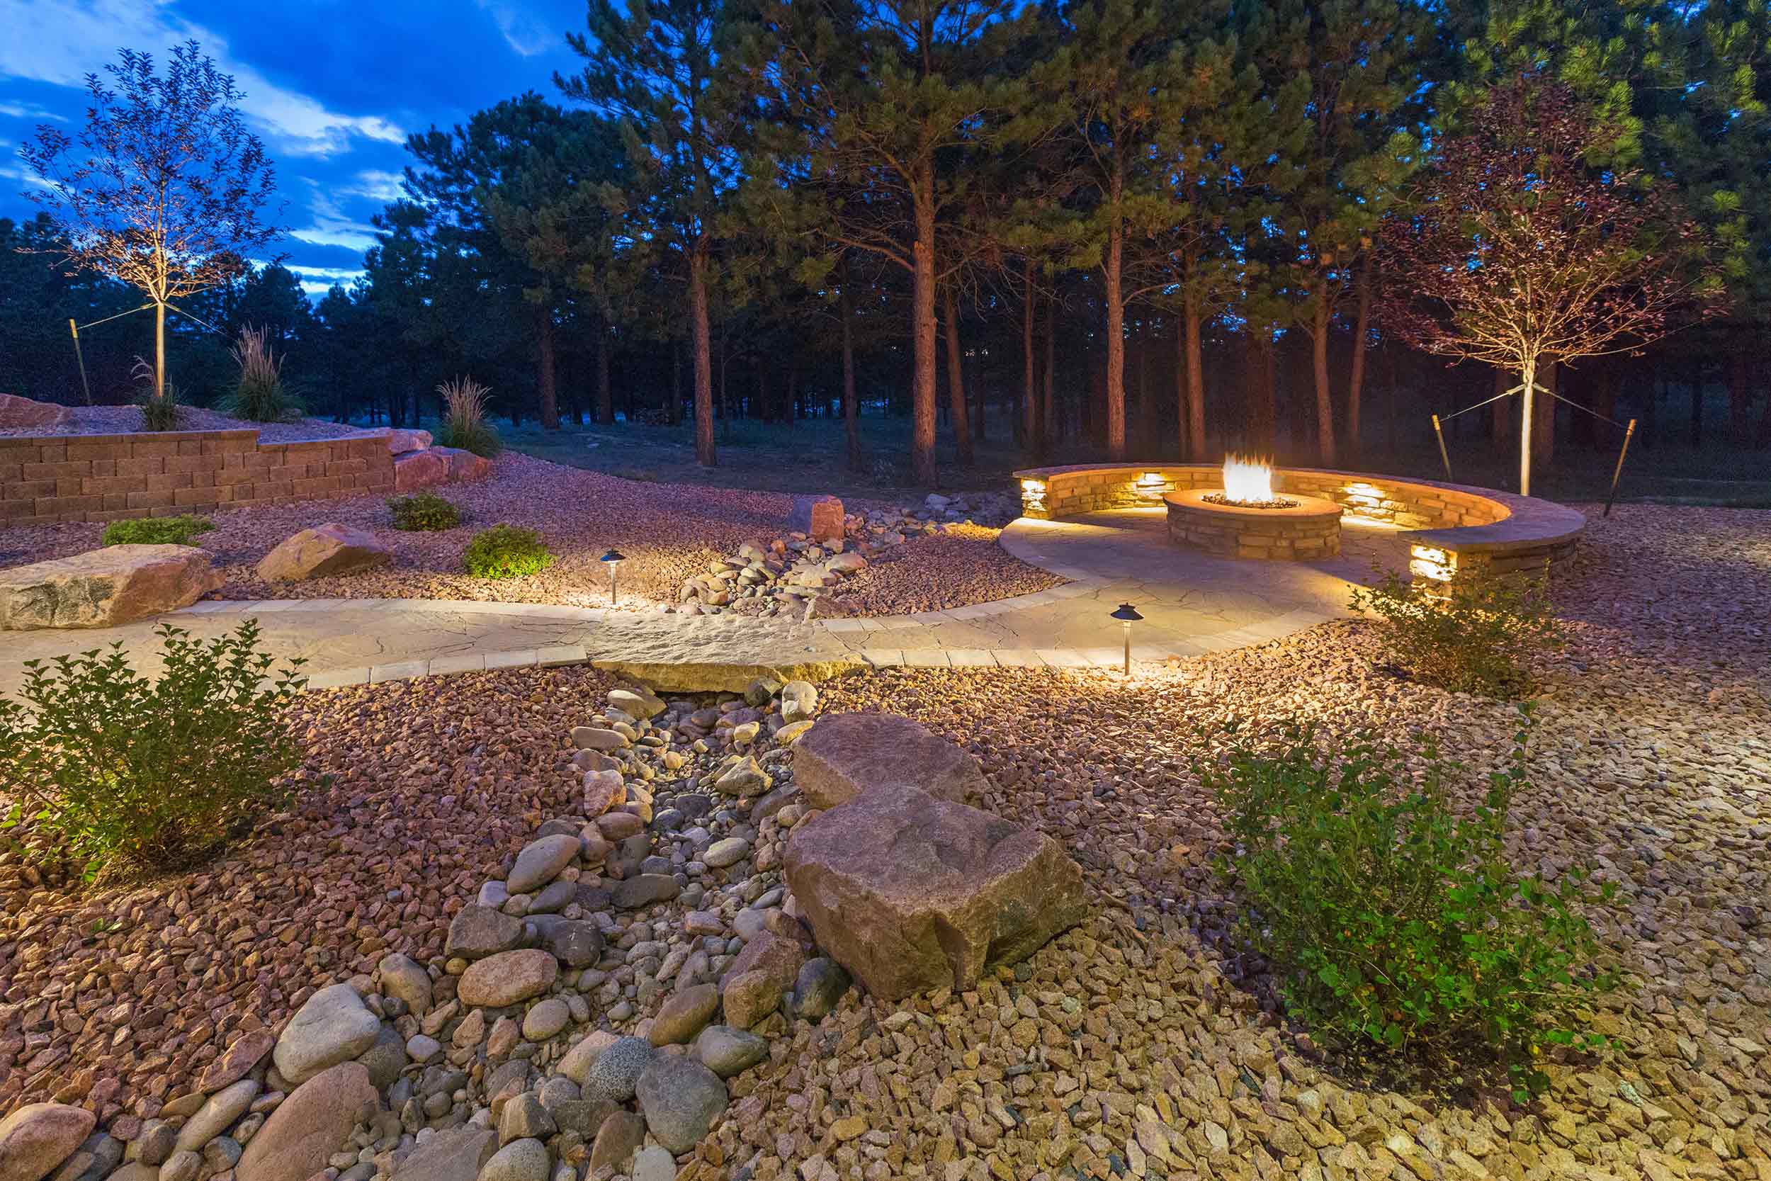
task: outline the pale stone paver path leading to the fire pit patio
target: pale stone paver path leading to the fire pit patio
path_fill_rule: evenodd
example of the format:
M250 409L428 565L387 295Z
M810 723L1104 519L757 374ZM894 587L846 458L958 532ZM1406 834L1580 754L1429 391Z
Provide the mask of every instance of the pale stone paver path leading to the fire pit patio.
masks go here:
M0 692L18 689L25 660L113 641L154 671L156 623L218 636L248 618L259 620L267 652L306 659L313 687L586 660L680 680L668 689L740 687L769 669L816 676L845 664L1112 668L1123 634L1109 614L1121 602L1144 616L1132 636L1135 660L1264 643L1346 614L1351 581L1374 561L1404 565L1404 536L1348 526L1334 560L1236 561L1172 545L1162 510L1020 519L1001 544L1070 583L947 611L806 623L429 598L209 600L126 627L9 632Z

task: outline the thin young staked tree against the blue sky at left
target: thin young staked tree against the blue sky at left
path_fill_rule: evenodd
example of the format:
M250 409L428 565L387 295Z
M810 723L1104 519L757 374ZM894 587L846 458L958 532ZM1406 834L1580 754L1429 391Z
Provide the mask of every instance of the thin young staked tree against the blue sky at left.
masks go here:
M30 193L55 221L71 271L99 271L154 306L154 397L166 390L166 308L246 273L282 230L266 225L276 175L246 129L234 78L195 41L166 74L122 50L110 83L87 74L78 138L43 126L19 149L43 181Z

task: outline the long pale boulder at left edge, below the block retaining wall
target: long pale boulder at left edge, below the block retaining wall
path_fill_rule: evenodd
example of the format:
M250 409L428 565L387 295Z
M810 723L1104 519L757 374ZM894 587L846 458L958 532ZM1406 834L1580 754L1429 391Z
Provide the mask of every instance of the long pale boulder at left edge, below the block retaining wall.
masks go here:
M220 586L195 545L106 545L0 570L0 630L115 627L188 607Z

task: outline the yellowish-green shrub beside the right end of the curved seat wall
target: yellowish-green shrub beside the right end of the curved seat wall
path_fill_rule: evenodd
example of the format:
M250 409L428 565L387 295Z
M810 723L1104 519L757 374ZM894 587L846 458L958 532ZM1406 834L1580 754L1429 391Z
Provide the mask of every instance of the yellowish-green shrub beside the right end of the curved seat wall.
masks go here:
M1463 570L1449 583L1381 572L1353 588L1351 607L1378 616L1390 657L1454 692L1516 698L1532 691L1532 659L1562 646L1544 579Z

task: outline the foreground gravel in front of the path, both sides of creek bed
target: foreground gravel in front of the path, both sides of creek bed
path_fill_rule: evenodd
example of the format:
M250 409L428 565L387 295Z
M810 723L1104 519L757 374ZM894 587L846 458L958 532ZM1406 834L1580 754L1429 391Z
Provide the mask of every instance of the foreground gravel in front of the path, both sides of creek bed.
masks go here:
M1431 733L1472 790L1518 728L1507 705L1387 671L1369 625L1341 621L1130 682L825 685L824 712L907 714L974 751L985 806L1056 836L1098 907L972 993L850 993L765 1030L770 1059L731 1080L678 1181L1771 1177L1771 513L1622 508L1594 522L1562 598L1571 645L1544 669L1511 852L1619 884L1594 919L1635 984L1592 1015L1617 1048L1551 1057L1539 1103L1337 1073L1226 938L1201 728ZM386 949L441 954L483 868L570 806L561 731L607 685L554 669L315 694L296 806L230 859L115 891L0 862L0 1110L58 1091L152 1115L315 986Z

